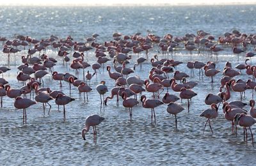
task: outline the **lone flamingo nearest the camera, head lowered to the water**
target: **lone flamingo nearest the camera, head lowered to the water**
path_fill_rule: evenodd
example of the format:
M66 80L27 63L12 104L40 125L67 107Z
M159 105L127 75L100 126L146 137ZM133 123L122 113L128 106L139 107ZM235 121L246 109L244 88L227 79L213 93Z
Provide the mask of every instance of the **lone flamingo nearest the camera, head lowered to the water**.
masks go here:
M96 126L99 125L102 121L104 121L104 117L100 117L96 114L86 117L85 119L85 126L82 130L82 137L85 139L85 134L89 132L90 126L93 128L93 142L96 142L97 138L97 130Z

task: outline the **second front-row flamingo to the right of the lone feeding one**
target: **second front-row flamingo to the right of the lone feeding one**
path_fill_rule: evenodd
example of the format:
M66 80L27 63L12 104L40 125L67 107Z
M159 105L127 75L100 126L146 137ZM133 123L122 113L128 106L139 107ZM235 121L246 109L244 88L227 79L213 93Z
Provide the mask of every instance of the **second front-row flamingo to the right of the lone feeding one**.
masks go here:
M151 123L153 123L153 113L154 113L154 119L156 123L155 108L158 107L159 105L163 105L164 103L156 99L147 99L145 95L142 95L140 100L142 102L142 107L151 109Z

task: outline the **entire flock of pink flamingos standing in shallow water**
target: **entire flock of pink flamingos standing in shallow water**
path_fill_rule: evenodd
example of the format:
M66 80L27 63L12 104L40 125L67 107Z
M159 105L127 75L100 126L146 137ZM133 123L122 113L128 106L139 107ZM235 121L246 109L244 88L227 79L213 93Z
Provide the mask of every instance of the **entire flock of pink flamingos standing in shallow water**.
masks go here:
M255 56L253 52L255 51L254 48L256 45L255 34L240 33L234 30L216 38L202 30L197 31L196 34L188 33L184 36L166 34L163 37L152 33L142 36L141 33L124 35L115 32L110 41L99 43L97 42L97 38L99 38L99 34L92 34L92 37L86 38L85 42L74 41L72 36L59 38L51 35L49 38L43 40L36 40L30 36L23 36L21 34L15 34L15 38L12 40L0 37L0 41L3 42L4 56L8 56L9 64L10 56L15 56L15 58L19 57L19 59L21 57L21 64L17 67L19 70L17 80L23 82L24 85L19 89L13 89L8 84L8 81L4 79L3 74L8 72L10 68L1 66L0 73L3 74L3 78L0 78L1 107L3 107L4 96L14 98L14 107L23 109L22 119L23 124L26 124L26 109L28 107L37 102L42 103L45 115L45 107L49 105L49 114L51 111L49 101L55 100L58 107L59 105L63 105L63 119L65 121L65 105L75 99L63 93L63 81L69 84L70 94L71 87L75 86L79 92L79 99L82 100L83 93L84 102L86 100L88 102L88 93L92 91L90 80L92 77L97 78L100 69L105 70L104 64L106 64L106 70L108 71L109 77L113 79L115 87L111 89L111 95L106 98L104 96L104 94L108 92L106 80L101 80L100 84L96 87L97 92L100 94L100 111L102 109L104 110L104 105L107 105L108 100L113 99L114 96L116 96L116 105L118 105L118 96L121 96L123 99L122 105L129 109L130 120L132 120L132 107L140 104L139 101L141 101L142 107L151 109L151 122L156 123L155 108L159 105L166 104L166 111L175 116L175 128L177 128L177 114L184 110L184 107L177 103L177 100L187 100L189 112L189 102L197 95L193 91L193 87L198 85L198 82L186 80L189 77L188 73L176 70L176 67L184 62L175 61L173 54L183 51L190 54L191 61L188 61L187 67L191 70L191 77L195 77L194 69L196 69L198 70L199 79L202 79L204 75L211 77L211 86L213 86L214 81L220 82L220 93L209 93L205 97L205 104L210 105L209 109L204 110L202 114L200 114L200 116L207 119L205 126L209 123L212 132L210 119L214 119L218 116L220 103L223 103L224 117L232 122L232 132L237 133L237 125L242 126L244 128L244 141L246 141L247 146L247 129L249 129L253 145L251 126L256 123L254 119L256 118L256 109L254 109L255 101L252 96L252 100L250 100L251 109L248 112L243 109L246 103L242 102L242 98L244 91L247 89L252 89L252 91L256 90L256 66L252 65L252 61L251 64L247 63L247 61ZM58 62L56 57L48 56L46 54L47 49L57 49L56 57L59 56L57 59L62 58L62 60ZM237 64L235 68L232 68L231 63L227 62L222 71L223 77L220 80L214 80L214 75L221 72L216 69L216 63L218 63L218 54L223 50L231 50L231 54L237 55L237 63L239 62L239 54L246 57L246 61L245 63ZM248 50L252 50L252 52ZM192 52L203 51L208 52L207 54L214 55L216 61L192 61L194 55ZM97 60L97 63L90 64L90 61L88 61L88 52L93 54L93 58ZM148 59L149 52L154 54L151 59ZM164 58L159 59L159 54ZM127 68L127 63L130 63L131 59L136 58L136 55L138 55L138 59L136 59L134 67ZM147 61L152 65L152 68L144 69L149 73L148 79L141 80L138 75L132 75L134 70L138 70L136 66L140 66L141 69L143 63L147 63ZM76 70L75 75L68 72L60 73L54 71L53 67L56 64L66 65L67 68L69 66L72 70ZM86 72L86 68L92 68L94 73L90 73L89 70ZM111 69L114 69L115 72L111 72ZM83 70L83 72L79 73L81 70ZM234 79L241 75L242 70L245 70L245 73L252 79ZM173 77L170 77L170 73L173 73ZM78 79L79 74L83 75L81 79ZM60 84L60 89L44 87L43 79L45 75L51 75L52 81ZM145 94L142 94L145 91L152 93L152 97L150 96L150 98L148 98ZM160 98L163 91L166 91L166 93L163 98ZM178 92L179 97L170 94L171 91ZM231 94L235 94L230 93L230 91L240 93L241 100L229 101ZM27 98L29 94L30 99ZM35 101L31 100L31 95L34 96L34 94L35 98L33 99L35 99ZM140 95L139 99L137 94ZM23 97L21 97L22 95ZM89 131L90 126L92 126L93 141L96 142L96 126L102 121L104 121L104 117L100 117L97 114L86 117L85 126L81 132L83 139L85 140L85 135Z

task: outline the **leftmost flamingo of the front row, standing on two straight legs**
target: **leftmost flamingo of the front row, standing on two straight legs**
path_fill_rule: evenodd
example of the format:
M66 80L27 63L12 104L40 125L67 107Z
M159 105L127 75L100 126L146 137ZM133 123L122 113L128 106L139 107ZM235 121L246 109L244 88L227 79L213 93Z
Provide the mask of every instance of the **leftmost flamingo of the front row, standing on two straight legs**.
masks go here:
M30 107L31 105L36 104L36 102L28 99L28 98L21 98L20 96L15 98L14 107L16 109L23 109L23 124L27 124L27 112L26 108Z

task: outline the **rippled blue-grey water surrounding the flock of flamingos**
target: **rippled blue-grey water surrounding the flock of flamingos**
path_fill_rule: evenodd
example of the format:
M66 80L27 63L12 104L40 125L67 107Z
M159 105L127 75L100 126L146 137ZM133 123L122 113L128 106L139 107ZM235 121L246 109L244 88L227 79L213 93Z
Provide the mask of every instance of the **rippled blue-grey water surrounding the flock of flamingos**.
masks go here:
M256 6L157 6L157 7L0 7L0 36L13 39L14 34L32 36L36 39L47 38L51 34L65 38L71 35L74 40L84 41L93 33L100 34L98 41L112 40L113 32L147 34L147 30L163 36L171 33L173 36L183 36L186 33L196 33L203 29L214 36L223 35L227 31L238 29L242 33L255 33ZM150 52L152 57L157 52ZM10 72L4 73L6 80L13 88L22 86L17 82L17 66L21 64L20 52L11 57ZM56 50L47 50L49 56L56 57ZM0 52L1 66L6 66L6 55ZM129 67L135 62L136 55ZM145 56L141 54L140 56ZM160 57L165 57L159 54ZM73 72L62 65L61 59L54 68L58 72ZM89 63L95 63L93 51L89 52ZM186 62L188 52L176 52L173 59L184 61L177 70L189 73ZM244 58L241 56L240 59ZM207 54L193 53L193 60L214 60ZM219 57L218 69L222 70L226 61L237 64L236 56L225 49ZM255 64L255 60L252 63ZM242 63L242 61L241 61ZM109 61L108 64L111 64ZM143 69L136 70L134 75L147 79L151 64L143 64ZM88 68L92 72L92 68ZM101 69L102 71L102 69ZM244 72L243 72L244 73ZM221 73L214 80L220 80ZM80 78L81 75L80 75ZM99 94L95 90L100 80L104 78L110 89L114 86L108 73L102 72L98 80L93 78L93 91L89 102L78 99L77 88L72 87L72 97L76 101L69 103L67 121L63 122L63 112L57 111L54 101L50 116L42 116L42 104L30 107L28 125L22 126L22 110L13 107L14 100L4 98L4 107L0 109L0 165L254 165L255 148L252 144L245 146L243 132L239 128L238 137L231 132L230 122L223 117L212 121L214 135L207 126L202 135L205 120L199 117L202 110L209 106L204 104L207 93L218 93L220 84L216 81L211 87L209 78L198 80L198 72L189 80L199 84L193 90L198 96L193 98L191 110L181 112L178 117L178 129L175 130L175 118L166 112L167 105L156 108L156 124L151 124L150 110L143 109L141 103L134 107L132 121L129 121L129 110L122 107L122 101L116 106L115 100L108 102L105 111L100 112ZM237 78L249 79L247 75ZM52 82L48 75L44 78L45 86L58 90L58 82ZM68 84L63 84L64 93L68 94ZM145 93L148 98L152 94ZM174 93L179 96L179 93ZM163 96L163 95L162 95ZM161 97L162 97L161 96ZM243 102L248 103L252 92L246 91ZM231 100L239 100L239 95L232 92ZM180 102L180 100L178 101ZM180 103L187 107L187 103ZM249 109L249 107L246 107ZM98 128L97 144L93 143L92 129L81 138L84 119L90 114L100 114L105 117ZM255 127L252 128L255 133ZM250 140L249 140L250 142Z

